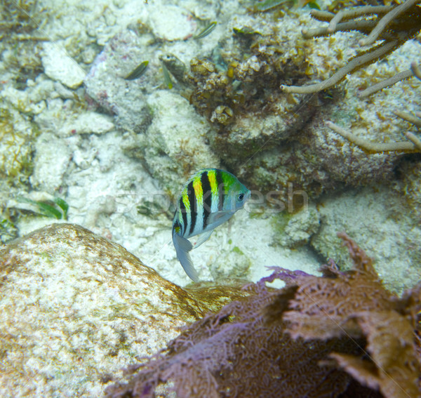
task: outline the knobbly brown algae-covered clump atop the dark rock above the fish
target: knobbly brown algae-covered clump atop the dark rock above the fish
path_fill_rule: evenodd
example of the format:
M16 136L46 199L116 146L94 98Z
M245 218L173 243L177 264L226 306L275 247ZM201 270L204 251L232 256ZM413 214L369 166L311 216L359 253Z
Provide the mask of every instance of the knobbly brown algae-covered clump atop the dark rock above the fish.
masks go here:
M246 32L246 31L245 31ZM244 115L272 113L279 98L279 81L303 79L308 67L305 51L294 59L281 58L282 48L274 37L260 37L258 32L233 36L243 41L243 58L233 55L220 65L208 58L193 58L187 74L192 90L189 101L220 131Z

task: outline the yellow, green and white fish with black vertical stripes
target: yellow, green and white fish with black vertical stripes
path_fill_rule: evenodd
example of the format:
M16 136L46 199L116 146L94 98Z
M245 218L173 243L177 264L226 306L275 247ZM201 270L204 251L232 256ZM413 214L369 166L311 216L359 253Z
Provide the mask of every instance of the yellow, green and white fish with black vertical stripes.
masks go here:
M235 175L218 168L203 168L187 181L173 220L173 244L186 274L199 281L189 251L208 240L215 227L243 208L250 190ZM193 245L188 239L200 235Z

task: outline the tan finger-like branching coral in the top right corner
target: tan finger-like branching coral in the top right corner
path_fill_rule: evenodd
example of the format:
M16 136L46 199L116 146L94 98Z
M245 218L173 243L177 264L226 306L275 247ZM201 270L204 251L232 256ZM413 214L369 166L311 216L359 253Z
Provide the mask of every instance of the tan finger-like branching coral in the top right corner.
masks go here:
M382 18L380 18L384 15ZM417 5L417 0L406 0L399 6L363 6L350 8L349 10L339 11L336 15L326 11L312 11L312 16L317 20L330 21L328 27L319 29L305 29L302 34L306 38L321 37L334 32L349 32L358 30L363 34L368 34L364 39L359 41L361 46L373 44L376 40L382 40L381 44L362 51L359 55L349 60L349 62L338 69L331 77L316 84L309 86L284 86L281 89L287 93L316 93L326 88L330 88L345 79L347 74L355 72L364 65L376 62L381 58L385 58L402 46L409 39L413 39L421 29L421 7ZM371 19L360 20L358 18L365 17ZM341 22L345 20L346 22ZM405 72L399 76L399 79L406 79L412 75ZM399 80L398 80L399 81ZM386 81L383 86L376 88L381 89L391 84L394 80ZM360 95L366 96L373 93L373 89L367 89Z

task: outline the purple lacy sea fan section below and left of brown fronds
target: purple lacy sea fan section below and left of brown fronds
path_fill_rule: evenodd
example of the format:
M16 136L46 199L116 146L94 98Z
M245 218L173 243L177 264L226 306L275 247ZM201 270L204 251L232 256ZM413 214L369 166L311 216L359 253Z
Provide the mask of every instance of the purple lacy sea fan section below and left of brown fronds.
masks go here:
M129 383L108 387L108 397L152 398L155 387L166 382L182 398L330 397L344 390L345 372L318 364L329 352L324 342L293 340L283 325L267 325L264 308L275 293L260 285L248 298L206 315Z

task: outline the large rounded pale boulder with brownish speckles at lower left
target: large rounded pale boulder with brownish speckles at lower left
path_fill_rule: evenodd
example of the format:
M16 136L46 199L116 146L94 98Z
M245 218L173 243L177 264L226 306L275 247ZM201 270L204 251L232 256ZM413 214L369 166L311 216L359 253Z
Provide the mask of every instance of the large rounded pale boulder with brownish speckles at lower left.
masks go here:
M199 303L121 246L70 224L2 246L0 293L1 397L101 397L124 366L218 310L224 295L239 296L216 289L215 300Z

